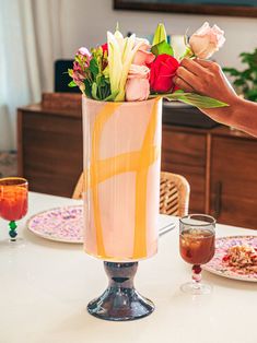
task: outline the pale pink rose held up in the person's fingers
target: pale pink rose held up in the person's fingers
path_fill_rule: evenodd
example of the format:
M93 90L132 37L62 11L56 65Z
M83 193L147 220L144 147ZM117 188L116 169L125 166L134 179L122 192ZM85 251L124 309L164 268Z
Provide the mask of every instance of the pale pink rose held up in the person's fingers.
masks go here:
M225 42L224 31L217 25L210 27L206 22L189 39L189 45L196 57L210 58L223 46Z

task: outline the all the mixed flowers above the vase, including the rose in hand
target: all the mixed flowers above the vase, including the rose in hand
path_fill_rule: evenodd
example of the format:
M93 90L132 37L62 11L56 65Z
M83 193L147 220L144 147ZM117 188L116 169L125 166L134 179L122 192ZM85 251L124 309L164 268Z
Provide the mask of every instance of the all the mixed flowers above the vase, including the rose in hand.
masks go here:
M224 33L217 25L205 23L187 42L180 59L210 58L224 44ZM82 47L75 54L73 69L69 69L70 87L79 86L86 98L102 102L138 102L153 97L178 100L199 108L226 106L217 99L184 93L173 81L179 60L167 43L163 24L159 24L153 42L135 34L124 37L116 28L107 32L107 43L91 49Z

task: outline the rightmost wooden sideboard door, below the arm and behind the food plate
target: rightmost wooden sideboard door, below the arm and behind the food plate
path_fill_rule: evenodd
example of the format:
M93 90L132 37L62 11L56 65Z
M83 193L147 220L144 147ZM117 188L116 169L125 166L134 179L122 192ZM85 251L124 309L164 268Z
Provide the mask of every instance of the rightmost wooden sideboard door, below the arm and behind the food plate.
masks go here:
M211 213L220 223L257 228L257 141L213 137Z

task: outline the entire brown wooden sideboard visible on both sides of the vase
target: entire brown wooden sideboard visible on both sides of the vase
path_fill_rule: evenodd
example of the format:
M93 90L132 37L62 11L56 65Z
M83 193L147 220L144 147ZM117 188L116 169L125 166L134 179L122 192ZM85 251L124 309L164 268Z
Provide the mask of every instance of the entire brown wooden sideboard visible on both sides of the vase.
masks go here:
M19 174L33 191L70 197L82 170L81 96L45 94L17 111ZM162 170L184 175L190 212L257 228L257 139L219 126L163 123Z

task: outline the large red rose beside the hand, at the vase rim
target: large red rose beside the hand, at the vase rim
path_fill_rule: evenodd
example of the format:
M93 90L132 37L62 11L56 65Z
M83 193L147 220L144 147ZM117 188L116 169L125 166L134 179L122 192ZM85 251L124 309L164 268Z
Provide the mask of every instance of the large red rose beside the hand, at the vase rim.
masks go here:
M178 68L178 61L166 54L159 55L151 64L150 85L156 93L173 91L175 84L173 78Z

